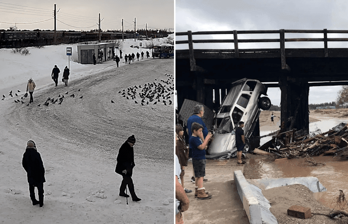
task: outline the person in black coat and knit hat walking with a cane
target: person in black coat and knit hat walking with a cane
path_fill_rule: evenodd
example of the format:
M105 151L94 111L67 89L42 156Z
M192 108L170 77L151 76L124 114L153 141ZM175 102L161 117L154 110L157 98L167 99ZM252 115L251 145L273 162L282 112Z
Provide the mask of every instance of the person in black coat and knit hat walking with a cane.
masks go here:
M122 175L122 183L120 186L120 193L119 196L123 196L128 198L129 195L127 195L124 191L127 188L132 196L132 200L135 202L139 202L141 199L137 197L134 191L134 184L132 180L132 174L133 174L133 167L135 167L134 163L134 150L133 145L135 143L135 137L134 135L130 136L126 142L123 143L121 148L118 151L117 155L117 164L115 172Z

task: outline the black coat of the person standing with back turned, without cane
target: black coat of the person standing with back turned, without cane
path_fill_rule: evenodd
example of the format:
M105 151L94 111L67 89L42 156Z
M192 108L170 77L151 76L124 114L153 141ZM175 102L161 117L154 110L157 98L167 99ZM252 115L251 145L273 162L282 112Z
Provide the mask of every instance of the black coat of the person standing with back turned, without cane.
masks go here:
M46 182L45 168L43 166L41 155L37 152L35 147L27 146L23 154L22 165L27 172L29 184L35 185Z

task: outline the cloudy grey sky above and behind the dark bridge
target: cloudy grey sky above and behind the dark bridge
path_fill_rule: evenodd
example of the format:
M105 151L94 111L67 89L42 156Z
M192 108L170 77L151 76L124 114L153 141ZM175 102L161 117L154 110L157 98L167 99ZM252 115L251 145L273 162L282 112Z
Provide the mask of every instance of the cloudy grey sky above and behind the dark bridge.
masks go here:
M224 31L224 30L279 30L279 29L344 29L348 30L348 3L344 0L176 0L175 31ZM239 35L240 36L240 35ZM255 38L243 36L245 38ZM285 35L285 38L293 36ZM319 37L323 34L301 34L297 37ZM328 34L328 37L348 37L348 34ZM183 37L177 37L180 40ZM224 37L200 37L225 39ZM233 39L233 37L231 37ZM263 35L261 38L277 38ZM187 39L187 37L186 37ZM231 45L216 44L212 48L234 48ZM187 49L187 46L175 46L176 49ZM195 48L203 47L195 44ZM240 48L254 48L244 44ZM264 43L258 48L278 48L279 44ZM286 48L318 47L323 43L285 43ZM328 47L348 47L348 42L329 42ZM204 46L204 48L209 48ZM311 87L309 103L319 104L336 101L341 86ZM274 105L280 104L279 88L268 90L269 98Z

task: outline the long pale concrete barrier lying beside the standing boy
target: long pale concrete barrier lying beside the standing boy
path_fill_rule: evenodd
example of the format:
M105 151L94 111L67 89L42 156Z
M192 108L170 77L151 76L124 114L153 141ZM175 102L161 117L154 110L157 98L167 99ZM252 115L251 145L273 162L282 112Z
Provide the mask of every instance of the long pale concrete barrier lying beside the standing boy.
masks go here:
M237 186L243 208L250 224L277 224L277 220L269 211L269 201L262 195L262 190L250 184L241 170L234 171L234 181Z

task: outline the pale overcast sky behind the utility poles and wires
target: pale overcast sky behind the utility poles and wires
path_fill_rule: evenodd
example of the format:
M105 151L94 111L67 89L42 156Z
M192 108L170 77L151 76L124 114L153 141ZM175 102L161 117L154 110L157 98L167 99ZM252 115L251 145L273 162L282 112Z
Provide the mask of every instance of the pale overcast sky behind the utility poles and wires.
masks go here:
M174 0L0 0L0 29L54 29L56 3L57 30L171 29L174 31ZM48 20L45 22L41 22ZM59 21L58 21L59 20ZM34 24L19 24L31 23ZM66 24L64 24L66 23Z

